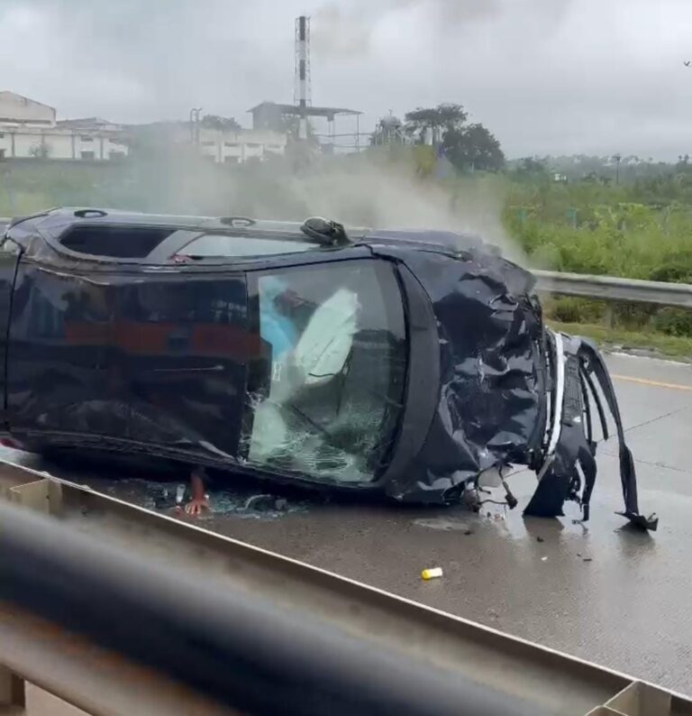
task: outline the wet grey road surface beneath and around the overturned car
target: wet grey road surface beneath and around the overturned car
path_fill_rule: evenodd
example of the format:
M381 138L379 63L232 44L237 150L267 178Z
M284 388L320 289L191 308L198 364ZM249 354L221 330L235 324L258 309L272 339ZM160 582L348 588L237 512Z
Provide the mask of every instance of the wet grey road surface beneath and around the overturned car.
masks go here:
M520 507L506 513L495 505L474 515L359 504L245 484L213 491L214 510L200 525L692 693L692 366L621 355L608 363L637 460L641 509L660 516L655 533L627 528L615 515L622 494L612 439L599 449L587 528L572 523L574 505L566 518L524 519L531 473L511 478ZM159 482L75 474L7 455L170 509ZM168 484L168 500L175 487ZM420 572L431 566L444 575L423 582Z

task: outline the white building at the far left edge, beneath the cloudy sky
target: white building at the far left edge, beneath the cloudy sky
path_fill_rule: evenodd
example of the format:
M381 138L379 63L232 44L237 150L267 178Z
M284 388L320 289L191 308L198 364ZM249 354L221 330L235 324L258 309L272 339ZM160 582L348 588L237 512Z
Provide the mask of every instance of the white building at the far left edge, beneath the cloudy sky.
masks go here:
M0 159L105 161L127 153L117 124L96 117L57 122L53 107L0 92Z

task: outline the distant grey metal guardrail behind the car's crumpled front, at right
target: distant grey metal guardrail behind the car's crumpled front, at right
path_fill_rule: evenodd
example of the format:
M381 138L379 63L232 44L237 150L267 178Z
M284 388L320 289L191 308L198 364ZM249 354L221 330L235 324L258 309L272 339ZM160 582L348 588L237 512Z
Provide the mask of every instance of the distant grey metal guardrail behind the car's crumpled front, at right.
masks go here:
M692 308L692 284L588 276L559 271L533 271L537 289L558 296L581 296L607 301L656 303Z

